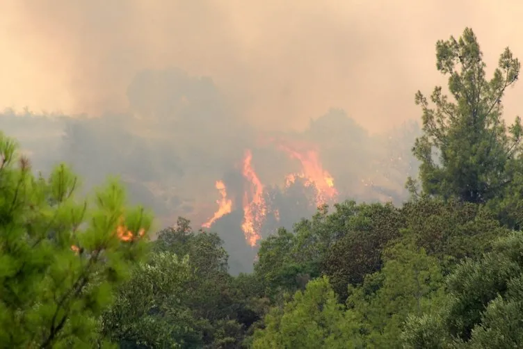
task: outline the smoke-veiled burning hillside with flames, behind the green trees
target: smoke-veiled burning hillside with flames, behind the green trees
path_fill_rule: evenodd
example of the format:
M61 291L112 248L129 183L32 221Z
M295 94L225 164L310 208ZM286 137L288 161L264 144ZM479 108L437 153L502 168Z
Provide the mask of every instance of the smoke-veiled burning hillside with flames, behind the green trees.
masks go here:
M154 211L157 227L181 216L218 233L232 273L250 270L261 239L292 229L321 204L401 202L405 175L417 169L410 154L416 127L369 135L330 111L304 131L261 133L218 113L216 103L188 101L170 118L8 112L0 127L33 154L35 170L65 161L85 190L118 175L131 203ZM46 138L33 137L42 129Z

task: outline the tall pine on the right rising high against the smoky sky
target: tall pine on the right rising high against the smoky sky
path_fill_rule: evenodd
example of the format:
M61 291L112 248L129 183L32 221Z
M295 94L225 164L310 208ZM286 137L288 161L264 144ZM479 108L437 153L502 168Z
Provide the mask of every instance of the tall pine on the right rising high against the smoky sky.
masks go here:
M520 168L520 117L506 127L502 97L517 80L520 62L508 49L499 58L494 76L485 77L485 63L472 29L456 40L436 44L436 67L449 76L449 92L437 86L430 99L417 92L423 111L423 135L412 149L421 165L423 193L481 203L499 197ZM437 158L437 159L435 159ZM408 186L414 189L409 179Z

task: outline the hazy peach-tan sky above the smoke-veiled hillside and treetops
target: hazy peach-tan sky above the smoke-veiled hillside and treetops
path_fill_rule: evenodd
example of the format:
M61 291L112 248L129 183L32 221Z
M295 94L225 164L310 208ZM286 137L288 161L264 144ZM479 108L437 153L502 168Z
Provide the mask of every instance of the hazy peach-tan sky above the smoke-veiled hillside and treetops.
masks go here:
M0 108L124 110L136 72L179 67L260 129L339 107L377 131L419 117L416 90L442 82L436 40L472 26L491 67L506 45L523 58L515 0L0 0L0 13Z

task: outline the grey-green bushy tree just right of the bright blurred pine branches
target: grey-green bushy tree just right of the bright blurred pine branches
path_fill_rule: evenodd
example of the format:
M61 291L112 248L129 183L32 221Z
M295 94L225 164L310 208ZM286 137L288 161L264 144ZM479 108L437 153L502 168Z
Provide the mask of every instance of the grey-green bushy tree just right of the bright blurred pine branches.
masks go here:
M188 257L159 252L131 272L103 316L103 333L121 348L201 348L201 334L184 305Z

